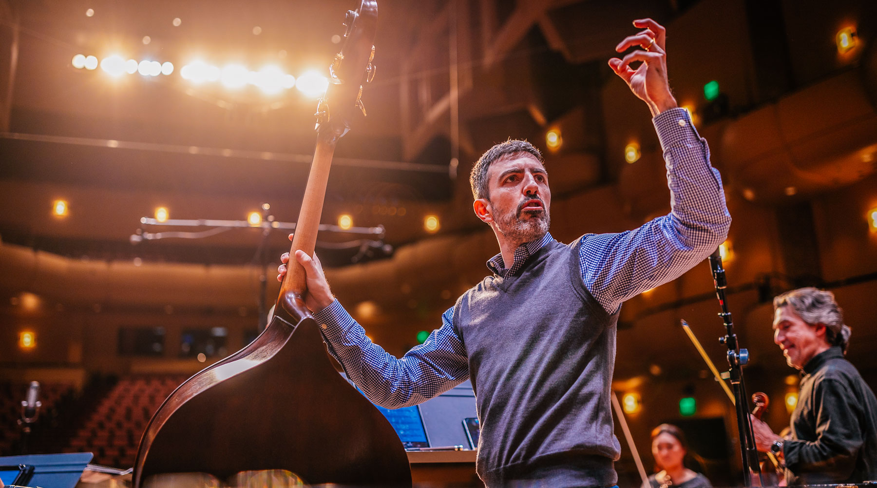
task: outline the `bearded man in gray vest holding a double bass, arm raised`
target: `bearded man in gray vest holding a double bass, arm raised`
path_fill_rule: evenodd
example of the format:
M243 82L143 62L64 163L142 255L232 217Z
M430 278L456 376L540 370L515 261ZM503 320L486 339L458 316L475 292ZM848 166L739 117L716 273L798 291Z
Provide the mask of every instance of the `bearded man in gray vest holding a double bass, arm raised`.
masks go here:
M481 420L476 470L488 486L617 482L610 383L621 305L701 262L731 224L706 141L667 83L665 29L650 18L633 25L641 31L616 50L642 49L609 65L652 111L667 161L669 214L624 233L560 243L548 233L542 155L524 140L497 144L470 178L474 212L499 243L491 274L401 359L367 339L332 296L316 255L296 251L307 275L305 304L330 353L374 403L416 405L472 380Z

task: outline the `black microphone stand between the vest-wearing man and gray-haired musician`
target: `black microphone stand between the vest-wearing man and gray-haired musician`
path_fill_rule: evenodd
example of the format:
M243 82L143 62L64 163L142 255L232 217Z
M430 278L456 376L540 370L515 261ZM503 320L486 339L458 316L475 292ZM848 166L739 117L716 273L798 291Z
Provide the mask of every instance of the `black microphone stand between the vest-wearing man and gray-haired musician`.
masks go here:
M726 332L724 337L720 337L718 340L728 347L728 366L730 369L723 373L722 377L731 380L731 391L734 393L740 455L743 459L743 481L745 486L752 486L752 473L755 473L758 475L757 485L762 486L759 452L755 448L755 435L752 433L752 421L749 419L749 410L746 408L748 404L743 384L743 366L749 362L749 351L739 347L737 334L734 334L734 322L731 319L731 312L728 312L728 302L724 296L724 290L728 287L728 283L725 281L722 256L718 249L709 255L709 268L712 270L718 303L722 307L722 312L719 312L718 315L724 322Z

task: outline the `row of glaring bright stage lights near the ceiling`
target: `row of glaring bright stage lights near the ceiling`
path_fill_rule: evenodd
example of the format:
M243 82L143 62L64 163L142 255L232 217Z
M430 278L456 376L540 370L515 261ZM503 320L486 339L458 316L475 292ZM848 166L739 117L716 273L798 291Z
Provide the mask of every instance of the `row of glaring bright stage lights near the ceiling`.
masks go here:
M104 73L113 78L135 73L143 76L171 75L175 70L174 64L170 61L125 60L118 54L112 54L100 61L94 55L76 54L72 64L77 69L95 70L100 67ZM180 69L180 76L183 80L196 85L222 83L230 90L253 85L267 95L275 95L282 90L295 87L307 97L320 97L329 86L329 79L320 75L317 70L311 69L296 78L275 65L252 71L241 64L232 63L219 68L204 61L193 61Z

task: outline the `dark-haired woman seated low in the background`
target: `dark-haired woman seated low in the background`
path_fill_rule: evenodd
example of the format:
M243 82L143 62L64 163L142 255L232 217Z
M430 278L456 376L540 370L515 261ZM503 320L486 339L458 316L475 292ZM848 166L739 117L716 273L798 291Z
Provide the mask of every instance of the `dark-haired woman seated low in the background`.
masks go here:
M652 430L652 456L660 471L649 477L651 488L711 488L709 479L685 467L688 441L682 429L661 424Z

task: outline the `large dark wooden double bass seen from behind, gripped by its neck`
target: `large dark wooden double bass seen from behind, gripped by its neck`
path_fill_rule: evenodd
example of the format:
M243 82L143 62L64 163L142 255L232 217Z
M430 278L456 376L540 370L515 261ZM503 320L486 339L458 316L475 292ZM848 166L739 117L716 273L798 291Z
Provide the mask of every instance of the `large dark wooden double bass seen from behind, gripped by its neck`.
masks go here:
M317 108L317 144L290 249L314 254L338 140L374 75L376 0L347 11L345 43ZM408 458L384 416L332 366L304 305L304 269L293 262L275 315L251 344L181 384L139 443L132 485L168 473L227 479L240 471L289 470L310 484L409 486Z

